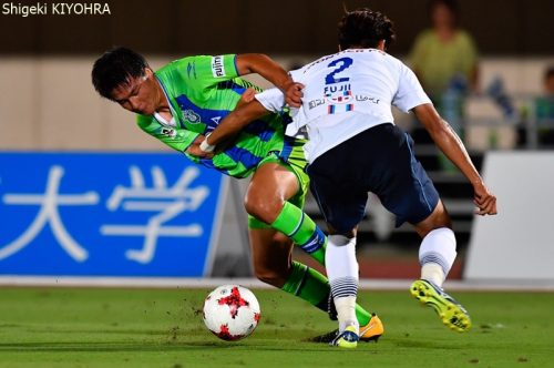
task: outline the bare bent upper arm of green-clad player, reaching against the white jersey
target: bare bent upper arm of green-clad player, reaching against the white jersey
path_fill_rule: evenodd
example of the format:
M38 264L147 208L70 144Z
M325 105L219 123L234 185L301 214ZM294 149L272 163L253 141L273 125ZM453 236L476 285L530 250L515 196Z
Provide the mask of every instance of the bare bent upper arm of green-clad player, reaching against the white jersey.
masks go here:
M274 60L261 53L243 53L236 59L239 75L258 73L275 84L284 94L285 102L293 108L300 108L302 85L296 83L290 75Z

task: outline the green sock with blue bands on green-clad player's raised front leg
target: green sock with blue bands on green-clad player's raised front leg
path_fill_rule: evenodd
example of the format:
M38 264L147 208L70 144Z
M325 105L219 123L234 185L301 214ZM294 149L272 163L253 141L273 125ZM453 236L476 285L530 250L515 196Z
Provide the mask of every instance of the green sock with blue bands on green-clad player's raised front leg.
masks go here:
M327 236L300 208L285 202L281 212L273 222L271 227L287 235L304 252L325 265L325 247Z

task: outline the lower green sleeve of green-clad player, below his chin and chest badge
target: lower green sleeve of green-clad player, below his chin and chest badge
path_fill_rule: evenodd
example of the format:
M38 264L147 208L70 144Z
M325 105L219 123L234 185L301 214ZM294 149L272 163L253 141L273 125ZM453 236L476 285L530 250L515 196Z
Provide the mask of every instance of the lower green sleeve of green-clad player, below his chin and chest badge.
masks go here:
M182 153L184 153L185 150L199 135L198 133L191 132L185 129L164 126L157 123L155 119L150 116L138 115L136 119L136 124L144 132Z

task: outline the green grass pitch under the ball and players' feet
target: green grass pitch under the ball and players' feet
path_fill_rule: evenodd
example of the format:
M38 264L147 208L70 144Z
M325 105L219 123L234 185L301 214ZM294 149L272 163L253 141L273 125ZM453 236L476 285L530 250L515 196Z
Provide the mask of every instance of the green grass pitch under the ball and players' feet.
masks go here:
M218 340L199 309L206 289L1 288L0 367L553 367L554 294L453 293L473 328L445 328L409 292L360 293L379 313L378 344L305 341L335 323L278 290L254 290L258 328Z

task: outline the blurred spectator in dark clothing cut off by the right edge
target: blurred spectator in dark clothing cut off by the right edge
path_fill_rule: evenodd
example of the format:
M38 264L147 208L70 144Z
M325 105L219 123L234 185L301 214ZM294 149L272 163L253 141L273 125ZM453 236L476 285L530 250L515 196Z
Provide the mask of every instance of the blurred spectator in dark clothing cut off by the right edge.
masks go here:
M535 100L538 142L554 145L554 65L544 73L544 95Z

